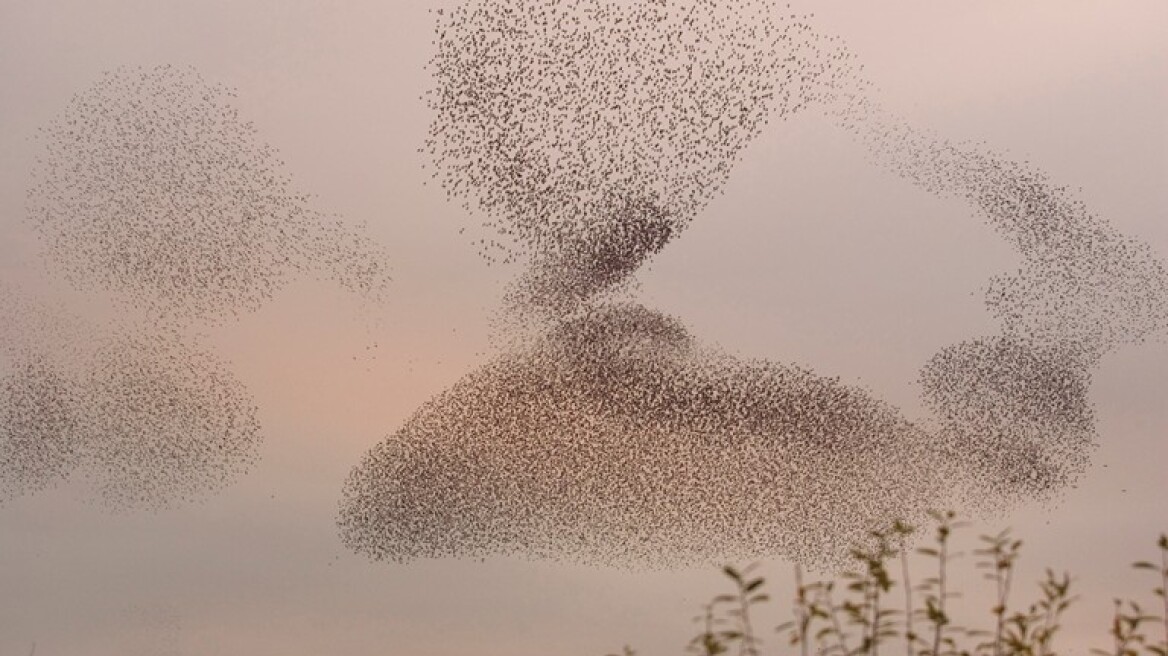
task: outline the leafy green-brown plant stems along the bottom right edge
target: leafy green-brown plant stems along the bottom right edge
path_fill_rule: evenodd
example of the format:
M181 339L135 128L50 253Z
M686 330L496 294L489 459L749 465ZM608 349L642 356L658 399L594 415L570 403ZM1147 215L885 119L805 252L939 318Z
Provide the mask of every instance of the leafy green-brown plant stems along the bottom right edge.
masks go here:
M981 536L981 547L974 551L975 566L994 586L993 624L988 630L961 627L948 610L948 601L959 596L951 589L950 566L962 556L952 549L954 532L968 524L957 521L952 511L933 511L930 517L933 519L932 544L913 551L934 561L936 574L916 586L909 566L909 538L917 529L904 522L874 531L865 545L851 551L857 566L843 572L837 580L808 582L802 567L797 565L792 620L778 627L787 638L786 644L798 648L800 656L878 656L882 647L896 644L903 645L906 656L1056 656L1055 638L1062 628L1063 614L1077 600L1071 594L1073 579L1070 574L1045 570L1038 581L1037 600L1024 607L1011 606L1022 540L1014 539L1009 530ZM1163 606L1163 614L1150 614L1135 601L1117 599L1110 630L1112 649L1092 649L1092 654L1168 656L1168 535L1160 536L1156 544L1160 564L1139 561L1133 567L1156 572L1159 580L1153 594ZM897 564L901 581L892 577L890 568ZM765 580L752 575L756 570L757 564L741 571L723 567L735 589L715 596L695 617L702 630L690 640L689 654L764 655L763 640L756 633L751 612L767 601L769 595L763 592ZM903 588L903 608L890 605L898 585ZM923 606L917 607L915 599L920 599ZM1156 624L1162 624L1162 638L1149 635ZM777 655L783 652L774 651ZM632 655L626 647L625 656Z

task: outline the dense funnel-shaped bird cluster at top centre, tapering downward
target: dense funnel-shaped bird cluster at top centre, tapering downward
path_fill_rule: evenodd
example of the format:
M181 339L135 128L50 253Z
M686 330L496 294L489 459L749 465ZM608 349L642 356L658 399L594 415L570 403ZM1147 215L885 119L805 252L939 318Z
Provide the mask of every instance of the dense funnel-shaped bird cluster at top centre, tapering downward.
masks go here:
M529 258L516 305L556 313L625 282L766 123L832 97L848 70L772 0L472 0L438 13L434 176L481 211L488 258Z

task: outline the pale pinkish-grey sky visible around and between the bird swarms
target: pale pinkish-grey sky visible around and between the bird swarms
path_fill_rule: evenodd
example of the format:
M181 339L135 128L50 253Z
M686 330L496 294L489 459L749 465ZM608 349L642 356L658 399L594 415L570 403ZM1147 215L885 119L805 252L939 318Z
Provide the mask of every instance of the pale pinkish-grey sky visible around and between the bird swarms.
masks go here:
M0 508L0 656L547 655L623 644L681 652L722 592L715 565L625 572L519 559L369 563L336 538L341 483L423 402L492 354L514 270L487 267L417 153L430 117L423 1L0 0L0 275L50 287L22 224L36 128L121 65L190 64L238 90L319 209L388 247L390 300L362 307L305 281L209 332L259 406L255 470L204 502L110 512L84 486ZM1168 254L1168 4L794 4L843 36L895 111L1042 167L1121 231ZM912 384L940 347L995 330L981 305L1016 256L957 202L869 165L826 120L772 124L725 194L642 272L640 296L705 340L840 376L919 412ZM376 348L367 348L377 344ZM370 355L374 354L374 355ZM1096 372L1101 447L1056 508L986 526L1077 577L1064 648L1107 644L1112 596L1146 593L1128 564L1168 531L1168 344ZM973 535L966 544L973 546ZM790 566L764 573L790 596ZM972 564L959 566L975 585ZM1020 596L1021 599L1021 596ZM988 616L988 605L966 603ZM763 624L786 620L778 607ZM773 636L772 650L779 640ZM771 651L776 652L776 651Z

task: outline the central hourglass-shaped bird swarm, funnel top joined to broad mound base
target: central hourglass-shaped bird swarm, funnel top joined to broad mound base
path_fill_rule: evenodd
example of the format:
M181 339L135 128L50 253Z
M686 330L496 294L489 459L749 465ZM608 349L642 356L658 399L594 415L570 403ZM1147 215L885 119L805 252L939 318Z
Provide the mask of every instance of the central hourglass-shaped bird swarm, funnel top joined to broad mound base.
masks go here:
M527 256L508 309L542 334L354 470L345 540L388 559L822 560L923 510L944 467L894 409L607 294L764 125L836 100L854 71L835 40L765 0L472 0L438 23L434 175L487 245Z

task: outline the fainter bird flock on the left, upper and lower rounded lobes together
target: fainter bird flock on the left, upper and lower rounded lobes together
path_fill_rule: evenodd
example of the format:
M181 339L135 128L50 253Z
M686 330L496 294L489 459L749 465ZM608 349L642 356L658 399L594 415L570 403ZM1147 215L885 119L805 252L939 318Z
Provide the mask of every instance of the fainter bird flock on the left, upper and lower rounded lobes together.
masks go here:
M41 128L27 222L50 272L118 320L0 288L0 503L74 474L110 508L224 487L262 432L200 332L296 277L384 293L384 249L293 189L235 98L192 68L124 68Z

